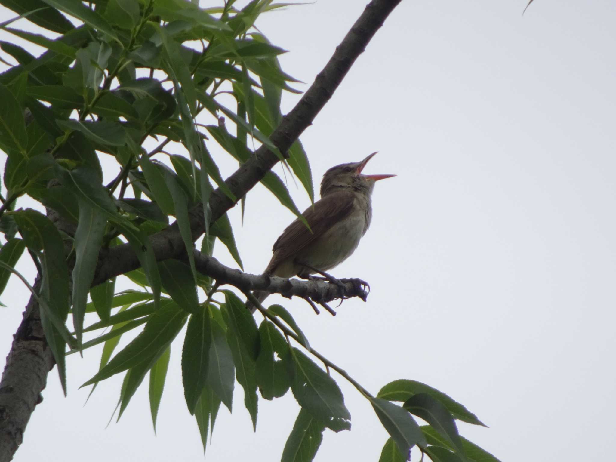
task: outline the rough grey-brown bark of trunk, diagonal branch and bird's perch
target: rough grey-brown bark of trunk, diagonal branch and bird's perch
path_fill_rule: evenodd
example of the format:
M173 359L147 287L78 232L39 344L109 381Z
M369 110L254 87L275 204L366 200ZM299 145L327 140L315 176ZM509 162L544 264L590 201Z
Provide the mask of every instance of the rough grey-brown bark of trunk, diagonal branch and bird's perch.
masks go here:
M330 100L352 64L362 54L370 39L399 2L400 0L373 0L368 4L341 44L336 47L336 51L325 68L318 73L312 86L270 136L281 152L286 152L304 129L312 124L315 116ZM261 147L226 180L226 184L235 197L243 197L277 162L278 157L274 153ZM211 222L214 222L235 203L220 189L217 189L212 193L209 205L212 211ZM205 232L202 206L195 206L190 210L190 225L193 240L197 240ZM177 224L152 235L150 245L158 261L181 257L184 252L184 243ZM212 263L209 261L203 265L202 269L205 274L208 274L208 268L214 273L215 266ZM94 285L138 267L139 260L129 245L110 249L100 256ZM233 270L230 271L233 272ZM212 276L216 277L216 274ZM219 277L222 276L219 274ZM262 282L266 283L266 281ZM236 283L239 285L241 281L236 281ZM280 283L285 287L296 283L306 285L302 290L309 286L318 288L320 285L326 285L325 283L289 283L285 280L279 282L271 278L267 286L271 288L272 283ZM265 289L259 286L258 281L250 282L250 284L251 287ZM342 288L330 286L332 287L328 288L326 293L331 294L331 291L336 290L341 291L342 294L345 293ZM282 289L281 286L281 293L288 292L287 289ZM26 307L23 322L14 336L0 381L0 462L12 460L12 456L21 444L25 426L36 403L39 402L40 393L46 386L47 373L53 365L54 360L47 347L40 323L38 304L31 299Z

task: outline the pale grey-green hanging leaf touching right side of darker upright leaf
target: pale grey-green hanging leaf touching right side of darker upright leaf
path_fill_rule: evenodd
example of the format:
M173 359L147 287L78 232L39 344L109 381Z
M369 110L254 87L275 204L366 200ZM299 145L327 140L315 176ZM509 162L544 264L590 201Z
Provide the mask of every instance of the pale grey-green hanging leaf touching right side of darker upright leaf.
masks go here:
M210 314L213 315L210 307ZM209 323L212 342L209 349L208 378L206 385L222 400L231 411L233 402L233 383L235 383L235 367L233 354L227 344L227 338L222 326L214 321ZM212 425L214 427L214 425Z

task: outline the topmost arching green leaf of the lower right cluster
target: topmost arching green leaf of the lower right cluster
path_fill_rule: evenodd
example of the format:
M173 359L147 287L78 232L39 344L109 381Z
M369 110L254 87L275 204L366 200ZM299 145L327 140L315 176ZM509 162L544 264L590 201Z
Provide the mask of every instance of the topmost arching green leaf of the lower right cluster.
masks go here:
M378 395L376 396L389 401L404 402L417 393L426 393L430 395L432 398L436 399L442 405L444 405L445 408L450 411L450 413L452 413L452 415L456 419L475 425L482 425L485 427L485 424L479 421L479 419L477 419L477 416L468 409L466 409L463 405L454 401L443 392L438 391L436 388L432 388L429 385L415 380L394 380L393 382L390 382L386 386L381 388L378 392Z

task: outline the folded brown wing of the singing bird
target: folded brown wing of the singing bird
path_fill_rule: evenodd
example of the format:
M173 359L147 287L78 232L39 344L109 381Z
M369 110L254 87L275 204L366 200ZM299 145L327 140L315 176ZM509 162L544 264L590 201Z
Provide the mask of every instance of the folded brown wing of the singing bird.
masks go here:
M274 243L274 256L267 265L266 273L271 273L280 262L297 254L302 248L318 239L334 224L351 213L354 194L339 191L326 195L307 208L302 214L310 225L310 232L299 219L288 225Z

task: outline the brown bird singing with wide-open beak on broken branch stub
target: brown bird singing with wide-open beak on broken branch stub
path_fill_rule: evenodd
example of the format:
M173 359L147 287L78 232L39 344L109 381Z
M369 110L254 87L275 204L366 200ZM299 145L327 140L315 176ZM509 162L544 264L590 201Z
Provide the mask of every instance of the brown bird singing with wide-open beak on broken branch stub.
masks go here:
M304 213L310 229L295 219L274 243L274 255L263 274L290 278L314 278L313 274L331 276L325 272L336 267L354 253L372 219L371 195L378 180L394 177L391 174L362 173L371 153L359 162L339 164L323 175L320 200ZM262 302L269 292L254 291ZM256 307L248 301L246 307Z

